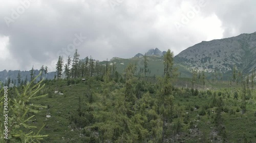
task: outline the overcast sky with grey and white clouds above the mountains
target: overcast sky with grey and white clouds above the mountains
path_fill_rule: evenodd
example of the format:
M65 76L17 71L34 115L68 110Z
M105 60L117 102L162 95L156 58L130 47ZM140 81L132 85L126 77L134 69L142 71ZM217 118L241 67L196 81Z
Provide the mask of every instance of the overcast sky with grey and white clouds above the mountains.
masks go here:
M0 70L55 70L59 55L106 60L151 48L175 55L256 31L254 0L0 0Z

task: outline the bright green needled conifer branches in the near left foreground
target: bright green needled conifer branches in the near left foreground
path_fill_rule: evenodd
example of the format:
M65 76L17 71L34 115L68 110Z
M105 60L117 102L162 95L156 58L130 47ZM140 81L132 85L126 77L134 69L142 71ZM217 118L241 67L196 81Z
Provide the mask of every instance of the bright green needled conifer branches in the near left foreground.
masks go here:
M31 103L31 100L47 96L47 94L40 94L40 91L45 86L40 85L42 81L35 85L32 84L37 77L29 84L23 85L22 90L15 88L15 96L12 98L9 97L8 140L11 142L40 142L42 138L48 136L39 134L44 126L35 132L33 129L37 127L31 124L35 121L36 113L39 111L38 108L47 108L46 106ZM2 93L0 92L0 94ZM3 103L4 98L1 98L0 109L2 111ZM1 121L4 121L3 116L1 117ZM3 130L0 133L3 134Z

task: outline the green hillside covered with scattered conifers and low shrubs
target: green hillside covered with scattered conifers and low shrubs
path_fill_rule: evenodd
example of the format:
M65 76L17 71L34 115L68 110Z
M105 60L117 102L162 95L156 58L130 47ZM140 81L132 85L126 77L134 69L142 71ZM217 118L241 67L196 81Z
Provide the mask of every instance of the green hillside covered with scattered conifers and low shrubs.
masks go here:
M193 70L192 77L182 78L168 50L163 76L150 76L147 58L144 54L143 68L129 64L119 73L108 60L80 60L76 50L68 59L59 56L54 79L46 79L47 66L39 75L32 67L25 81L18 73L16 86L8 88L9 139L4 141L256 141L253 72L243 75L234 67L232 78L222 80L221 72L207 78ZM4 100L1 96L1 110Z

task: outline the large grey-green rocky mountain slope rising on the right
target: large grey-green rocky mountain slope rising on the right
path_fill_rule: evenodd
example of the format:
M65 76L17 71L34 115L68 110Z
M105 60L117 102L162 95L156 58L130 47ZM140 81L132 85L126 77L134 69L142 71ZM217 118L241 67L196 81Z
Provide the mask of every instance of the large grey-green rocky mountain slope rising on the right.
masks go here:
M243 73L256 68L256 32L236 37L202 41L175 56L187 68L230 72L234 66Z

